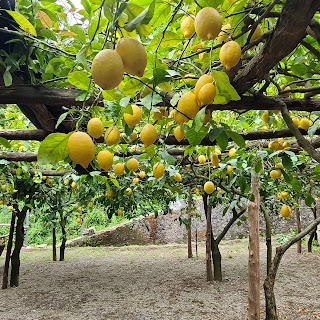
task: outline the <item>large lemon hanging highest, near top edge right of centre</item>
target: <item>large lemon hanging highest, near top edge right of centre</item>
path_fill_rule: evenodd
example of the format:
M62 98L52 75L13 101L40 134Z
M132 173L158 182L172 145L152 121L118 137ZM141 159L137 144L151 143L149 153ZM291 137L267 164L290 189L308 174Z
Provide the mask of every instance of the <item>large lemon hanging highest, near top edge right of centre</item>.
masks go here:
M216 9L205 7L197 13L194 20L194 27L200 39L213 40L221 30L221 16Z

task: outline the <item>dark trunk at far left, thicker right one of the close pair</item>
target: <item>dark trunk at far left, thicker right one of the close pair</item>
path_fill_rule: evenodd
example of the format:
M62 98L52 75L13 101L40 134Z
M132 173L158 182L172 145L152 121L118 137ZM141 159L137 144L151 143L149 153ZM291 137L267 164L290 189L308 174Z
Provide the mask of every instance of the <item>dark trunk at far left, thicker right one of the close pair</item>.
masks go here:
M23 208L21 211L17 210L17 225L16 225L16 241L14 244L14 250L11 256L11 276L10 287L19 286L19 274L20 274L20 251L23 246L24 240L24 219L26 217L27 208Z

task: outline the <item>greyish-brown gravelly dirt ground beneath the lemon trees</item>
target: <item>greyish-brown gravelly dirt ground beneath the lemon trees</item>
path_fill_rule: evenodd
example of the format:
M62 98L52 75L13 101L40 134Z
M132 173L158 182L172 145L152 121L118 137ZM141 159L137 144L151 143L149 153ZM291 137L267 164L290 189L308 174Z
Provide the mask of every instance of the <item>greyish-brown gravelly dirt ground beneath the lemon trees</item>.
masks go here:
M0 290L0 319L246 319L247 240L221 251L223 282L207 283L203 243L197 259L184 245L67 248L64 262L50 261L49 249L24 249L20 286ZM3 264L4 255L1 279ZM275 290L280 319L320 319L320 254L287 252Z

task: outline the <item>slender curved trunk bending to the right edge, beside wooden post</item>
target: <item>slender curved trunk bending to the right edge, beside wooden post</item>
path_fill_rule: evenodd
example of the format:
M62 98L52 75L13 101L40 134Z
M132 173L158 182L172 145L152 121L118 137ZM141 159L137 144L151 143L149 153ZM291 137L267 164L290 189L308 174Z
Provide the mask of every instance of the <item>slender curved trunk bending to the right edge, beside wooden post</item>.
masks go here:
M315 219L315 221L313 221L307 228L298 233L295 237L291 238L284 245L276 248L276 254L273 258L269 275L266 277L263 284L266 299L266 320L278 320L276 299L274 295L274 283L282 256L292 245L312 231L319 223L320 218Z

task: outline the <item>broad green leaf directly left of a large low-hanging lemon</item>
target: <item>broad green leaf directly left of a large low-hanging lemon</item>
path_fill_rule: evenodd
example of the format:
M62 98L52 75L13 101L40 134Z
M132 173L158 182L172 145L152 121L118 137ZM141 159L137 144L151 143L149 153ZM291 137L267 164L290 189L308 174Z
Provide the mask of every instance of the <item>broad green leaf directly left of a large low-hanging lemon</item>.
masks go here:
M68 157L67 143L72 132L51 133L40 144L38 162L41 164L56 163Z

